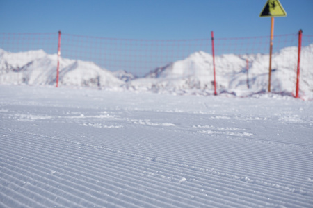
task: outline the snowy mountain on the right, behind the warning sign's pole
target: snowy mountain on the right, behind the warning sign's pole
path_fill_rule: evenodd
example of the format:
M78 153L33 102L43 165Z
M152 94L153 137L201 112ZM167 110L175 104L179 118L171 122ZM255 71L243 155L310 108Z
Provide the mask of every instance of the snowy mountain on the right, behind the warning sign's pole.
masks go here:
M297 47L284 48L273 54L272 92L293 93L296 88ZM216 56L216 83L218 89L247 89L247 69L250 90L268 89L268 54ZM303 47L300 64L300 89L313 93L313 44ZM195 52L184 60L159 67L128 83L131 89L186 91L214 89L213 58L203 51Z

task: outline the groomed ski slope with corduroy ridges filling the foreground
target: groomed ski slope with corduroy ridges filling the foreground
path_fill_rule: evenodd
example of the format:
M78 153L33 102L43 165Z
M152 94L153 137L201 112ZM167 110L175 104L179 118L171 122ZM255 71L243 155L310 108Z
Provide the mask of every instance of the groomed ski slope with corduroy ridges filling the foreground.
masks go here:
M0 85L0 207L312 207L313 105Z

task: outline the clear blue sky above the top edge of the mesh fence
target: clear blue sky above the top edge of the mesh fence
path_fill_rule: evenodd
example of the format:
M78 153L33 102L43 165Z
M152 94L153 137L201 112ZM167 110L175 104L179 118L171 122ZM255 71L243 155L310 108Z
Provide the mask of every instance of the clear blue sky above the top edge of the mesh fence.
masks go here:
M0 32L63 33L132 39L269 35L266 0L0 0ZM280 0L287 17L275 35L313 35L313 0Z

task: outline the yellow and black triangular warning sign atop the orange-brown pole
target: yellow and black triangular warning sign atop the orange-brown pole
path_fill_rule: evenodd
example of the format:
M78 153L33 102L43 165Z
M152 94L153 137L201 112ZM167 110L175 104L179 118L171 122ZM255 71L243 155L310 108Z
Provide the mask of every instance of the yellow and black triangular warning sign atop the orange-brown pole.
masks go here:
M268 0L259 17L285 17L287 13L278 0Z

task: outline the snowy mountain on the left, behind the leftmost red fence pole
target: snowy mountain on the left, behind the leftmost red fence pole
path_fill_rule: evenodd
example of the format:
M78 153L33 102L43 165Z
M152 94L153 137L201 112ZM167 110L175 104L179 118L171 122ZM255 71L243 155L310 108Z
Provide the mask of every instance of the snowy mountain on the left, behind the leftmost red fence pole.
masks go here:
M0 51L0 83L55 85L57 55L44 51ZM120 87L124 82L93 62L60 58L60 85Z

